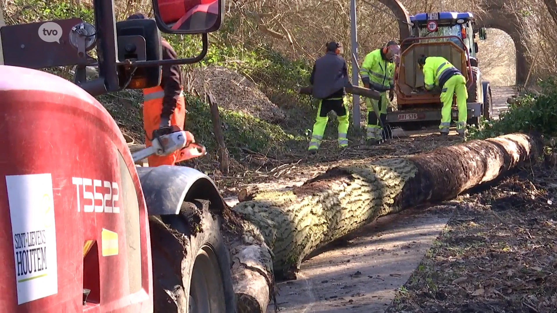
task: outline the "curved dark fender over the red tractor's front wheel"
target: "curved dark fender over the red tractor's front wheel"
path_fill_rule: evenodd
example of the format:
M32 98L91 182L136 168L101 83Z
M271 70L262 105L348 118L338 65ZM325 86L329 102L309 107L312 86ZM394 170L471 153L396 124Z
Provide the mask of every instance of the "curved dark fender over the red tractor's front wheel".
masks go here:
M149 215L178 214L188 199L209 200L216 209L226 206L213 180L196 169L177 165L136 169Z

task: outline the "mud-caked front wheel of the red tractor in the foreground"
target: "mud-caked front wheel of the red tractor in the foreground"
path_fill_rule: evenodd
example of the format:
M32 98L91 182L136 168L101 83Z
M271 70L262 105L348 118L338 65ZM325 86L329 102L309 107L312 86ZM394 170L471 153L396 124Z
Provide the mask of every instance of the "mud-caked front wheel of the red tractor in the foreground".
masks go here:
M229 253L209 201L184 201L180 214L160 216L158 225L156 218L149 217L154 312L235 313Z

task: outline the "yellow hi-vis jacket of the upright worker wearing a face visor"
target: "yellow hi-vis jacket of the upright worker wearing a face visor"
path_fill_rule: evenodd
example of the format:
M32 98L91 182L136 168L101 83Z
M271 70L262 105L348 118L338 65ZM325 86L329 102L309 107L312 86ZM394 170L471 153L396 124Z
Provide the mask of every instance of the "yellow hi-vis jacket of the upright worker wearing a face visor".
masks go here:
M381 49L369 52L360 68L362 80L368 77L370 87L377 91L393 89L393 74L394 62L385 60L381 55Z

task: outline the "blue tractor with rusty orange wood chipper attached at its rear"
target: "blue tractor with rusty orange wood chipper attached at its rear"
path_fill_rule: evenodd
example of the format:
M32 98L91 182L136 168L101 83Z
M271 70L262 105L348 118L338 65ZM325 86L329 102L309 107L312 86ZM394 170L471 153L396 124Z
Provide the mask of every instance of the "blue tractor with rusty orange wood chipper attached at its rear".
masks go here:
M486 38L485 28L474 32L470 12L419 13L410 17L411 37L401 43L400 61L395 68L397 111L387 114L390 126L403 130L437 127L441 121L441 91L424 89L423 72L418 67L420 55L442 56L466 77L468 90L467 124L477 125L480 117L491 119L492 99L488 81L482 81L478 69L476 33ZM453 99L452 119L456 120L456 99Z

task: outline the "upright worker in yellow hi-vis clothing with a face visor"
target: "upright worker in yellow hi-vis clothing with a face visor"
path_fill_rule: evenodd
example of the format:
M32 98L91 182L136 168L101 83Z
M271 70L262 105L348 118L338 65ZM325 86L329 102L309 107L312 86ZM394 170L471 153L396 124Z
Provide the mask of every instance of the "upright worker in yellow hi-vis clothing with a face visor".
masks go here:
M394 99L394 60L399 51L400 46L394 41L389 41L384 47L368 53L361 65L360 76L364 87L377 90L381 94L380 100L365 99L368 109L366 118L368 144L375 144L383 138L390 137L390 134L384 133L384 131L390 131L390 128L383 130L379 119L383 125L386 123L387 107L390 103L387 101L387 90L389 100ZM375 115L374 106L377 107L380 116Z

